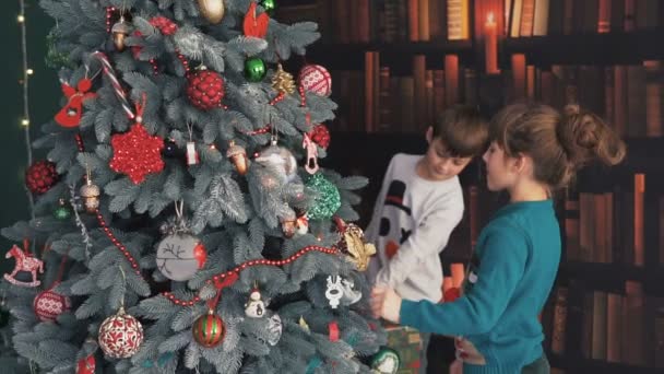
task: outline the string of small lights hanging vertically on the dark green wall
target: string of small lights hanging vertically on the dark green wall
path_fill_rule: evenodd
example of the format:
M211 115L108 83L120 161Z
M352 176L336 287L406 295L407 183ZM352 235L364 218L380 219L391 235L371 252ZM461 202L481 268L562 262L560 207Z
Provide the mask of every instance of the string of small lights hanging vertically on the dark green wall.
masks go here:
M23 67L23 79L21 85L23 87L23 118L21 119L21 126L23 127L23 133L25 136L25 151L27 155L27 166L33 164L33 149L32 140L29 138L29 96L28 96L28 78L34 74L35 71L27 66L27 31L25 26L25 0L19 0L19 15L16 16L19 22L19 28L21 30L21 55L22 55L22 67ZM25 188L27 195L27 201L29 204L29 215L35 219L35 202L33 195Z

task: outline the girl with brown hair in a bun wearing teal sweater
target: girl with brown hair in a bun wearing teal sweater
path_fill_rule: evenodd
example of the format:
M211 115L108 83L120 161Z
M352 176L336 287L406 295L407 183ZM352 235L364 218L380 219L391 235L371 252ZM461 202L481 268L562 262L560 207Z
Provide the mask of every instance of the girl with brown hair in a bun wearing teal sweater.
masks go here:
M592 160L615 165L622 141L594 114L568 106L560 115L540 104L514 104L491 120L484 154L487 186L510 203L482 231L464 294L451 303L402 300L372 290L374 314L420 331L463 336L464 374L548 373L537 319L560 260L552 194Z

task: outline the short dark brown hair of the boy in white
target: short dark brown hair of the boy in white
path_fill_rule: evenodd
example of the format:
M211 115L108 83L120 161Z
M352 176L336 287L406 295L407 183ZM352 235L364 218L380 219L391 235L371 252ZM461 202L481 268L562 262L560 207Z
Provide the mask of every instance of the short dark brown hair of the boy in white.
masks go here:
M477 108L454 105L438 114L434 139L440 139L452 157L473 157L488 145L488 122Z

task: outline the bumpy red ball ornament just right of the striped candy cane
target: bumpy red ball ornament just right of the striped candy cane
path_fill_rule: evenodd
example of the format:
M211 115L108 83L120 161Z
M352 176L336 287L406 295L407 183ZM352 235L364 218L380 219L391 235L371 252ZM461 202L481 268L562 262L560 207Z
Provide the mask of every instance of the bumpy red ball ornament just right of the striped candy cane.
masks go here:
M191 104L201 110L222 106L224 98L224 79L215 71L199 70L187 78L187 96Z

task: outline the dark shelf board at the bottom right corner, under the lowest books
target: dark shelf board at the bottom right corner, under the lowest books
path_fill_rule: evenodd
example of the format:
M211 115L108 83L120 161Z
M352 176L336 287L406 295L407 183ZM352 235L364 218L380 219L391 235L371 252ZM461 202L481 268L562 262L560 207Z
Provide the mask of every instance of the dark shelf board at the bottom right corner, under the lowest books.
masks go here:
M559 355L547 353L547 358L552 367L562 369L568 374L576 373L602 373L602 374L654 374L664 373L662 369L652 369L644 366L635 366L624 363L606 362L598 360L590 360L583 358L570 358L567 355Z

